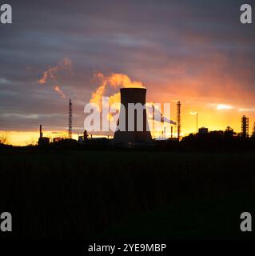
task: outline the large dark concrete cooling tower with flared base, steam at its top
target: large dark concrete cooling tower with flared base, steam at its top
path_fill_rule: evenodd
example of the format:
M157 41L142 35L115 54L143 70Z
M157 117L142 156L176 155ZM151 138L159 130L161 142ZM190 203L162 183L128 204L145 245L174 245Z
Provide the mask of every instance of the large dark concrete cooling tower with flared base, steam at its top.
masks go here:
M146 130L146 127L149 127L149 126L148 126L145 107L141 111L134 110L133 114L130 114L132 113L132 111L129 112L130 110L128 110L129 103L133 103L133 104L141 103L142 106L145 106L146 89L145 88L122 88L121 102L122 102L122 106L119 114L118 125L120 125L120 122L122 122L122 120L126 120L126 122L124 123L124 126L122 126L122 127L126 127L126 129L115 131L114 142L126 143L126 142L151 141L152 138L151 138L149 128L148 130ZM134 105L134 106L137 106L137 105ZM138 122L140 122L140 124L142 121L141 126L137 124L137 120ZM133 126L133 130L129 129L130 121L133 122L133 124L131 124L131 126Z

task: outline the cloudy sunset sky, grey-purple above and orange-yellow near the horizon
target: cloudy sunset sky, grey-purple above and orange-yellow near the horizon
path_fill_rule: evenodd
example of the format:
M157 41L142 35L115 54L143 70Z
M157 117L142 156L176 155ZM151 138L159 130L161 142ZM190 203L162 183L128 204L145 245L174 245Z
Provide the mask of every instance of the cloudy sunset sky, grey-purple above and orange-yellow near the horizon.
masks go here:
M255 25L240 22L249 2L254 10L241 0L7 0L13 24L0 24L0 133L26 145L40 123L50 137L66 132L72 98L74 133L82 134L97 74L141 82L148 102L171 102L172 119L180 100L183 135L196 131L191 111L198 126L237 132L245 114L252 132ZM40 83L56 66L57 78Z

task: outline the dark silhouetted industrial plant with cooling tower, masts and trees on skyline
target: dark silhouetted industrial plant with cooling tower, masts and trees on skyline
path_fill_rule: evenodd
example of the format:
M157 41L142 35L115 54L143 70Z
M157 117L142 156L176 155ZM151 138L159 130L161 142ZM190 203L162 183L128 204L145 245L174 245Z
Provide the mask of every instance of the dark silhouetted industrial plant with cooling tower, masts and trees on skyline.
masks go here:
M149 123L146 113L146 108L144 107L146 104L146 89L145 88L122 88L120 89L121 94L121 109L118 118L117 130L114 133L114 138L98 138L93 137L92 134L88 134L86 130L83 132L83 136L78 136L78 141L72 139L72 117L73 117L73 110L72 110L72 102L69 100L69 108L68 108L68 139L65 138L54 138L53 144L59 145L72 145L74 146L77 142L78 145L82 146L89 146L94 148L104 148L109 146L165 146L165 145L177 145L175 142L181 142L181 102L177 101L177 122L176 122L176 129L177 129L177 138L173 138L173 126L171 126L171 134L169 138L165 136L165 127L164 131L162 131L162 138L152 138L152 135L149 130ZM133 103L134 109L133 114L131 115L131 119L129 116L129 104ZM142 111L136 109L136 105L140 104L143 107ZM153 115L155 114L153 108ZM132 120L133 118L133 120ZM124 120L124 127L121 125L121 120ZM142 127L139 126L137 120L142 120ZM130 121L132 122L131 126L133 126L133 130L130 130ZM140 124L141 124L140 123ZM139 129L138 129L139 126ZM123 129L124 128L124 129ZM241 132L235 133L232 128L229 126L226 128L225 131L218 130L218 131L209 131L208 128L201 126L201 128L197 129L197 134L190 134L186 136L184 145L186 142L193 141L193 145L195 145L198 141L199 143L206 143L209 140L214 140L215 142L218 139L218 144L225 143L223 138L229 140L233 140L235 142L240 141L240 139L252 139L255 138L255 122L253 125L253 132L249 133L249 118L245 115L241 117ZM215 140L216 139L216 140ZM65 143L62 141L66 141ZM170 142L170 143L169 143ZM216 145L216 143L214 143ZM40 136L38 138L38 146L49 146L50 145L50 138L43 137L42 134L42 125L40 125ZM221 147L217 145L218 147Z

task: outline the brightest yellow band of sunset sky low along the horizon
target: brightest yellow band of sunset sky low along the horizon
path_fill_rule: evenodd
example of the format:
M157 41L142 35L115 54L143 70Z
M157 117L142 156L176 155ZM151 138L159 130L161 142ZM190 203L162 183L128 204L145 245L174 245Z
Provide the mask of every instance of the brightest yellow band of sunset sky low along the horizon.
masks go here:
M192 107L191 107L192 106ZM245 114L249 117L249 133L253 130L253 121L255 121L255 111L240 110L238 108L225 109L217 108L217 105L211 106L205 103L193 105L190 102L181 102L181 136L186 136L190 133L196 133L197 119L196 115L190 114L190 109L196 110L198 114L198 128L201 126L207 127L209 130L225 130L227 126L233 128L237 133L241 132L241 116ZM176 120L176 103L171 104L171 119ZM17 131L17 130L2 130L0 134L5 134L7 142L13 146L36 145L38 142L39 131ZM161 137L161 131L151 131L153 138ZM108 134L104 134L107 136ZM53 138L67 138L67 131L45 130L43 136ZM97 137L97 135L94 135ZM99 135L98 135L99 136ZM103 136L103 135L102 135ZM173 138L177 136L177 128L173 125ZM169 129L166 133L166 138L170 137ZM78 134L73 133L73 138L78 139Z

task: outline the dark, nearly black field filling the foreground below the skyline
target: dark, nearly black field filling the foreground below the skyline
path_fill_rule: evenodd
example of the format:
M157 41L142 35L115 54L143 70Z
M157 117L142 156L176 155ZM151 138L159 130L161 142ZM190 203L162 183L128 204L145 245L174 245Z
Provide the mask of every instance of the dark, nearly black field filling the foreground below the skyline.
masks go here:
M0 152L1 238L244 238L255 153ZM245 238L253 234L245 234Z

